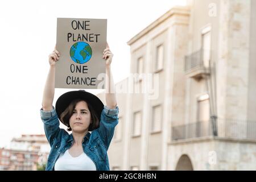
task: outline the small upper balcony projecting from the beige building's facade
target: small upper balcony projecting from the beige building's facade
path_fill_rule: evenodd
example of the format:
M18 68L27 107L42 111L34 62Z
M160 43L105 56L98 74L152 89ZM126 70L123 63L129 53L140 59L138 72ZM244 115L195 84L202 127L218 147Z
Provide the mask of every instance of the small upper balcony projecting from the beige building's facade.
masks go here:
M185 56L185 74L188 77L201 80L210 74L210 51L200 49L191 55Z

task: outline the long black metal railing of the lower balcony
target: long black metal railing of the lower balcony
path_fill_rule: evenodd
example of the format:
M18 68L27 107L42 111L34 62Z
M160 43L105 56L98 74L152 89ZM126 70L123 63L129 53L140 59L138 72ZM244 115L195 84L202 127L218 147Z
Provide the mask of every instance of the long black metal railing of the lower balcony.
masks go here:
M234 119L217 119L217 136L237 139L256 139L256 121L236 121ZM187 125L173 126L171 139L189 139L213 136L213 122L201 121Z

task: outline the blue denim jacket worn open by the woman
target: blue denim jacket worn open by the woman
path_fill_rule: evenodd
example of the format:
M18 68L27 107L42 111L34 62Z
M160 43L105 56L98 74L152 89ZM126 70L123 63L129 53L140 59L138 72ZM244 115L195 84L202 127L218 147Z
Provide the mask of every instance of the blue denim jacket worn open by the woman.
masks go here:
M104 106L101 112L100 127L87 133L82 142L84 152L94 162L98 171L109 170L108 148L114 134L114 128L118 124L118 106L109 109ZM54 170L57 158L60 154L71 148L73 143L72 134L60 129L60 122L55 107L51 111L40 110L41 119L44 123L44 132L51 146L46 171Z

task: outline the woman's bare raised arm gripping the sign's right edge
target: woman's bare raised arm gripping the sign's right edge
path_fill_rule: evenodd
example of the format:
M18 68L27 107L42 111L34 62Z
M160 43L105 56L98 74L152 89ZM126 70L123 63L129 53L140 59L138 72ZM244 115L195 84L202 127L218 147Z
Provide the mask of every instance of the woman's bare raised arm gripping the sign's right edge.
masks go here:
M115 96L115 85L111 72L111 62L113 58L113 53L109 49L107 43L106 49L103 52L102 56L106 60L106 82L105 82L105 97L106 97L106 106L109 109L114 109L117 106L117 100Z

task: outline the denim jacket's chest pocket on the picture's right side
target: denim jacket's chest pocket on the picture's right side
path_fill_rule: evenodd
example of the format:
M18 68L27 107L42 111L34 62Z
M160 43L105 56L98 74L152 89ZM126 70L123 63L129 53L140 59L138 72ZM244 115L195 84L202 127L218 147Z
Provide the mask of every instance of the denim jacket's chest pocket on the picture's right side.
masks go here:
M106 147L100 138L94 139L89 148L96 155L97 159L101 161L106 160Z

